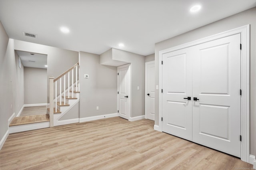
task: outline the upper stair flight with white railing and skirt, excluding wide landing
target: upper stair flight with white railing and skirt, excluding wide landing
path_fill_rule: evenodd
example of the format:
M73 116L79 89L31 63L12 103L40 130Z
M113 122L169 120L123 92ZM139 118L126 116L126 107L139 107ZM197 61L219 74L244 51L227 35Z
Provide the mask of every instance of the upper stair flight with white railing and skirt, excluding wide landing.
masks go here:
M49 77L50 107L47 109L47 114L50 116L50 127L79 122L78 120L60 121L80 101L78 74L79 64L76 63L56 79Z

